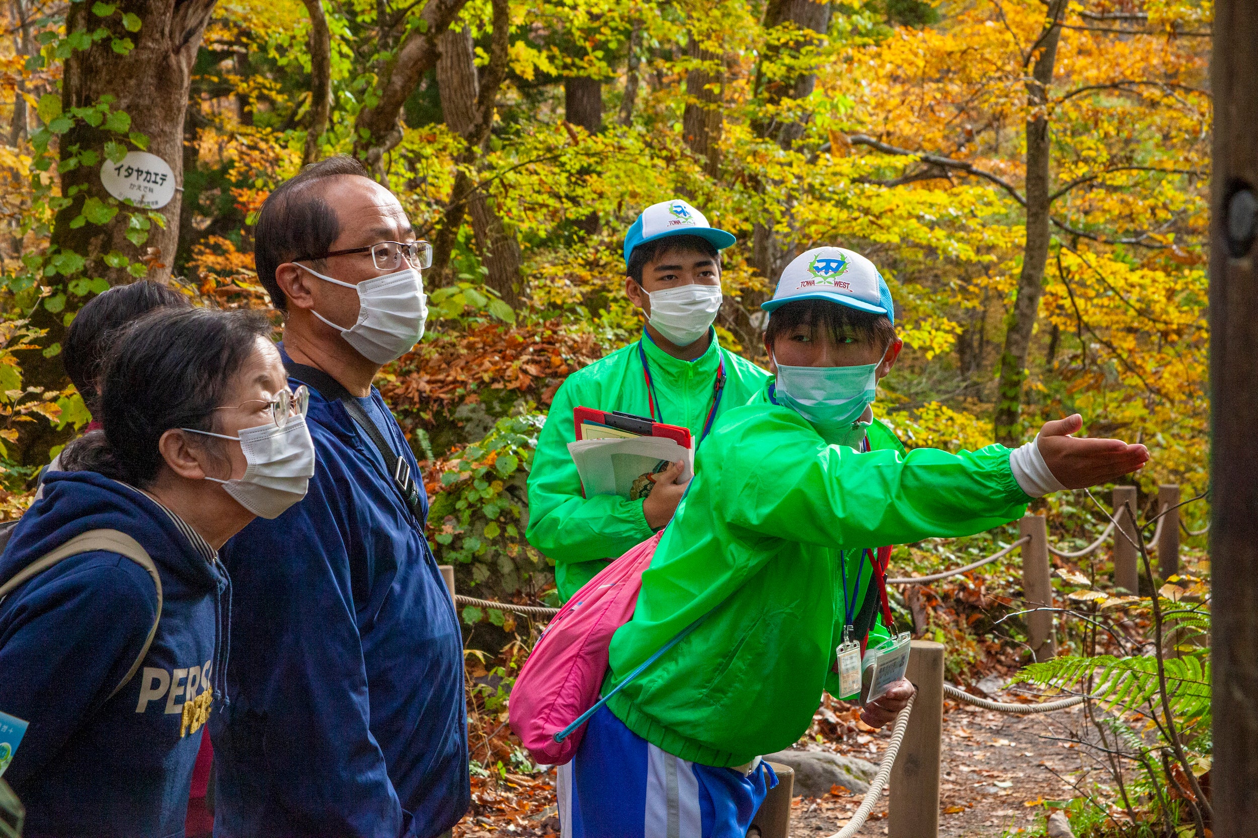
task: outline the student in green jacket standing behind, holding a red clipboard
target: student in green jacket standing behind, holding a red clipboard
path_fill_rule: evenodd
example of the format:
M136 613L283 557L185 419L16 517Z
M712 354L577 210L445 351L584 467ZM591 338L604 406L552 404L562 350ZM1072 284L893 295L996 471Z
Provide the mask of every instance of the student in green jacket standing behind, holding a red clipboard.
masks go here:
M712 320L721 308L721 254L733 235L711 227L686 201L647 207L625 235L625 295L643 310L642 338L580 369L555 393L528 476L528 531L555 560L565 602L610 559L669 521L686 491L682 464L659 475L644 500L581 494L567 451L572 408L649 416L689 428L698 445L712 422L769 379L723 349Z

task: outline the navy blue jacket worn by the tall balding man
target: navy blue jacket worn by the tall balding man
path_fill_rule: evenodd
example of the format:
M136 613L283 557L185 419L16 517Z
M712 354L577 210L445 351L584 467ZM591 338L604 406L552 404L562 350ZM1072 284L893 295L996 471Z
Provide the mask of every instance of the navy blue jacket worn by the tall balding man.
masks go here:
M423 534L428 499L416 519L340 402L311 392L306 422L306 499L223 549L235 607L231 709L210 720L214 832L437 835L470 789L463 642Z

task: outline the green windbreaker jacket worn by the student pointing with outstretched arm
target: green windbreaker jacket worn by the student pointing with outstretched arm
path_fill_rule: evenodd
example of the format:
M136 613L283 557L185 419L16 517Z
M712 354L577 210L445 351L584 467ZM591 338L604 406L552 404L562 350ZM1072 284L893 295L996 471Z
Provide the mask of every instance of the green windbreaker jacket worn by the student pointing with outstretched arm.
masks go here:
M905 454L881 423L869 441L867 454L827 445L771 403L767 387L717 422L643 573L633 619L611 639L604 694L710 616L608 702L632 731L716 766L789 748L821 690L838 695L840 555L855 588L860 548L980 533L1030 500L1004 446ZM866 567L857 609L877 596L869 578Z

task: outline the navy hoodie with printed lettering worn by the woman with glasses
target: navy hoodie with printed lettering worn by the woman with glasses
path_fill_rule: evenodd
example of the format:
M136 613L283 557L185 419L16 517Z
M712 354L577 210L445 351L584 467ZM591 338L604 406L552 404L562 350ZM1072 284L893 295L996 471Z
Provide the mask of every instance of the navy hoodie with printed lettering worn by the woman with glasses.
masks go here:
M0 584L81 533L116 529L157 567L161 621L140 670L111 699L157 611L143 568L84 553L0 603L0 711L30 722L4 779L26 808L28 837L180 837L205 730L184 724L192 714L182 707L226 663L218 631L226 573L186 524L125 484L82 471L49 472L44 486L0 555ZM221 701L215 691L215 712Z

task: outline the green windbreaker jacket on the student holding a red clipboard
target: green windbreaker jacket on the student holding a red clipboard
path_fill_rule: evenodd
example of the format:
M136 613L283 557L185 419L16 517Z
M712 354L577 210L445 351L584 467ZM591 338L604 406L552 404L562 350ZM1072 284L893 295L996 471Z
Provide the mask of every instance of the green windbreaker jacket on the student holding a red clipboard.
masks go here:
M688 427L696 442L712 407L717 367L725 359L725 392L717 417L747 403L769 373L712 343L699 358L678 361L643 334L654 383L655 421ZM555 393L528 475L528 541L555 560L555 580L565 602L614 559L650 538L640 500L581 495L567 443L576 438L572 408L593 407L650 416L638 343L569 376ZM715 425L713 425L715 427ZM702 449L701 449L702 450Z

